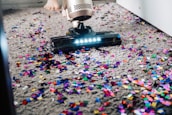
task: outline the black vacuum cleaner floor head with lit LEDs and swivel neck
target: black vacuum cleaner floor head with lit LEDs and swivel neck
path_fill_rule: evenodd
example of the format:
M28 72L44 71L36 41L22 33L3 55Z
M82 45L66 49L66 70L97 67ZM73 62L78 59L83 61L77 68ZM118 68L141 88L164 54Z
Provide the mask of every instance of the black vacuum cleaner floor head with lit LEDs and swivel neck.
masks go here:
M119 34L113 31L94 32L91 27L80 23L78 28L70 28L66 36L51 38L51 50L54 53L69 53L85 48L99 48L104 46L115 46L122 43Z

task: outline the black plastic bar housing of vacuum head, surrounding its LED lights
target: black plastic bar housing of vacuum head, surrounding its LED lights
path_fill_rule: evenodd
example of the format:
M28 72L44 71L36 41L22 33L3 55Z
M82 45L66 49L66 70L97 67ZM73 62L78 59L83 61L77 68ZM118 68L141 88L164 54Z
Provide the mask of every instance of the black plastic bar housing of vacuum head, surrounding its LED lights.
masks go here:
M75 44L75 41L78 39L89 39L89 38L101 38L100 42L92 42L92 43L80 43ZM86 48L99 48L104 46L115 46L120 45L122 43L121 37L119 34L114 32L96 32L92 34L78 35L78 36L59 36L51 38L51 48L54 53L59 51L70 52L77 49L81 49L83 47Z

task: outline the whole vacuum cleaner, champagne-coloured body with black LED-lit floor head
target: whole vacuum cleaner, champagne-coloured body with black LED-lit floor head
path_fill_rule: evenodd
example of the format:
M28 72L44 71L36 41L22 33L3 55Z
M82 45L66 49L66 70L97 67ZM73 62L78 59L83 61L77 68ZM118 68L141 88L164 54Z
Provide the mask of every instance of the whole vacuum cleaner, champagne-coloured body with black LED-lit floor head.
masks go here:
M66 0L65 11L67 20L72 22L73 27L68 29L65 36L50 39L51 50L54 53L69 53L83 47L99 48L122 43L120 35L113 31L95 32L90 26L84 25L83 21L93 15L92 0Z

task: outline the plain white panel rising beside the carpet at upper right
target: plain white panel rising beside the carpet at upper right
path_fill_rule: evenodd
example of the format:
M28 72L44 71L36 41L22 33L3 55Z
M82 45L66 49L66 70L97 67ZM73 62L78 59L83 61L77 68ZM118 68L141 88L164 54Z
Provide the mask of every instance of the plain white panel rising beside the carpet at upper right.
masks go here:
M172 36L172 0L117 0L117 3Z

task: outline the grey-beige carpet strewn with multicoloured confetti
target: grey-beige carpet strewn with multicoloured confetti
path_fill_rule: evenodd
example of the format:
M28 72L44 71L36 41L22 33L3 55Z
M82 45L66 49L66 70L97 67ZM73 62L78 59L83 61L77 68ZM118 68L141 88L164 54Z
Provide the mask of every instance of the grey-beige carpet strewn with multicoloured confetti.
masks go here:
M94 9L85 25L119 33L122 44L70 55L50 51L50 38L72 26L61 13L4 12L18 115L172 113L172 38L116 3Z

